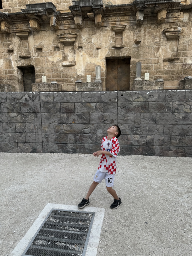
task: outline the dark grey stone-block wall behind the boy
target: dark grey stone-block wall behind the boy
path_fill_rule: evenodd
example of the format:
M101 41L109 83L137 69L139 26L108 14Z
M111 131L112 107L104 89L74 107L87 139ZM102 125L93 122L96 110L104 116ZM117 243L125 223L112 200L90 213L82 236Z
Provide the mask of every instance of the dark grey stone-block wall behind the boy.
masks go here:
M1 92L0 152L100 149L118 123L121 155L192 156L192 90Z

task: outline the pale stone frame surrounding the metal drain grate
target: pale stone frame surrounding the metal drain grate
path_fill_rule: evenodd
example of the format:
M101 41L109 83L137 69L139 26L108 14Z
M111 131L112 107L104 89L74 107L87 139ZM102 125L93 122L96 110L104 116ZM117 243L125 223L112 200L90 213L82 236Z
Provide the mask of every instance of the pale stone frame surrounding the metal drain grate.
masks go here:
M25 234L23 239L20 240L20 242L17 244L15 249L12 251L10 256L22 256L22 255L30 255L30 254L24 254L26 253L27 249L29 248L30 244L33 242L34 238L38 234L39 230L43 226L43 224L48 219L49 215L53 210L60 210L60 211L70 211L70 212L86 212L88 214L93 215L92 219L92 227L89 230L89 237L85 241L85 246L87 247L86 250L83 250L83 256L96 256L97 255L97 249L99 245L99 238L101 233L101 227L104 217L104 208L95 208L95 207L86 207L86 211L78 209L77 206L71 206L71 205L59 205L59 204L47 204L45 208L41 211L38 218L35 220L31 228L28 230L28 232ZM90 225L91 226L91 225ZM85 248L84 246L84 248ZM33 255L33 254L32 254ZM51 254L49 254L51 256ZM62 255L62 254L61 254ZM65 254L63 254L65 255ZM67 254L66 254L67 255ZM74 254L77 255L77 254Z

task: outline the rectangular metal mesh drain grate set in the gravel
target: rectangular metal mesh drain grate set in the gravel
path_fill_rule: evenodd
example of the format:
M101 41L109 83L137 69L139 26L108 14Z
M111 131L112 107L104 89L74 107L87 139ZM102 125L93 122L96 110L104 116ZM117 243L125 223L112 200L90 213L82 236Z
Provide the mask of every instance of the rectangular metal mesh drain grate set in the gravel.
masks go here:
M52 209L22 256L84 256L94 215Z

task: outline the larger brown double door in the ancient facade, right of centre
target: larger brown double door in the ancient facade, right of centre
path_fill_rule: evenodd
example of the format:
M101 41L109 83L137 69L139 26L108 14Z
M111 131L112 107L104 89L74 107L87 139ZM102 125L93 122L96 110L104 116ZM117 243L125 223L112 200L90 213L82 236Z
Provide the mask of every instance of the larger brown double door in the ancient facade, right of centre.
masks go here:
M106 58L106 90L129 90L130 58Z

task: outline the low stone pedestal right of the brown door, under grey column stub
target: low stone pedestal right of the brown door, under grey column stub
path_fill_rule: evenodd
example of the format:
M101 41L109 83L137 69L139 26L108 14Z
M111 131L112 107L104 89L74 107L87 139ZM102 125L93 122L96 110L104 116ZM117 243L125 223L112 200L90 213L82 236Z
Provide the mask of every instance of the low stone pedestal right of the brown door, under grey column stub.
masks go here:
M157 81L134 81L133 90L163 90L164 82Z

